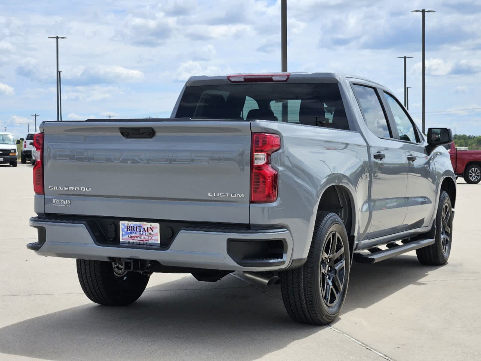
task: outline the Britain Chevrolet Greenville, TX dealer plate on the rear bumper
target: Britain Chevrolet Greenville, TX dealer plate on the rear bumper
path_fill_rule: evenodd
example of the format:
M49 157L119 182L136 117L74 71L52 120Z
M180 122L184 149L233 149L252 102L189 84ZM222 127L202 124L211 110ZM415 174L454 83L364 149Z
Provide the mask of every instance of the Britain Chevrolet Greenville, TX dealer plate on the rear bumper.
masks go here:
M160 246L159 223L121 221L120 244Z

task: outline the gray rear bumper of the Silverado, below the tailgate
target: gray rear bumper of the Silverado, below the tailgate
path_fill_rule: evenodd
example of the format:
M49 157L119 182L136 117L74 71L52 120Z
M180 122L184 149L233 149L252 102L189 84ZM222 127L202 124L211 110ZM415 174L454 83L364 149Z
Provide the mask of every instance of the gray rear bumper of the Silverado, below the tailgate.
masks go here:
M285 228L239 232L226 228L205 230L180 230L168 249L142 246L100 245L83 221L34 217L30 226L38 229L38 242L27 245L41 256L94 259L131 258L158 261L165 266L190 267L226 271L276 271L291 263L292 238ZM252 266L242 266L228 253L228 241L264 242L282 240L283 254L278 258L251 259ZM252 262L253 261L253 262Z

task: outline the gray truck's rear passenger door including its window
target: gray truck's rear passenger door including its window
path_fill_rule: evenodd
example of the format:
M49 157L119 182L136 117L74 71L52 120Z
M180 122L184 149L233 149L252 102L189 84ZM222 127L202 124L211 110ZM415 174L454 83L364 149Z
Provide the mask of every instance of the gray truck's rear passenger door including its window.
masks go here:
M367 125L365 131L372 157L371 195L367 200L371 226L367 238L400 232L405 219L407 159L404 143L393 138L379 91L365 85L353 85L354 93Z

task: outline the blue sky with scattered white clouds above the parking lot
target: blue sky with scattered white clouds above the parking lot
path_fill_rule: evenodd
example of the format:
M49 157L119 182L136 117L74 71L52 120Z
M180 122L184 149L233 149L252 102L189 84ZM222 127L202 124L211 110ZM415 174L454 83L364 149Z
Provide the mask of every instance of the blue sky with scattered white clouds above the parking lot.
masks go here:
M481 1L288 0L288 70L340 72L390 88L421 122L426 14L426 128L481 135ZM56 120L169 117L194 75L280 71L274 0L0 0L0 130Z

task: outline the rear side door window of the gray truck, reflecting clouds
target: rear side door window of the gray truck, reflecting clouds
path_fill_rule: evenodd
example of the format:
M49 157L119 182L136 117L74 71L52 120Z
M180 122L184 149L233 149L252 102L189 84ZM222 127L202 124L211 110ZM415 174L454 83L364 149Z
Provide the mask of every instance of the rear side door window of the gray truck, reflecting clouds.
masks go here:
M353 85L367 128L380 138L391 138L388 120L374 88Z

